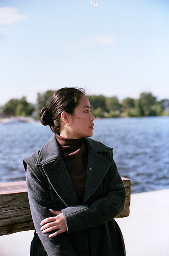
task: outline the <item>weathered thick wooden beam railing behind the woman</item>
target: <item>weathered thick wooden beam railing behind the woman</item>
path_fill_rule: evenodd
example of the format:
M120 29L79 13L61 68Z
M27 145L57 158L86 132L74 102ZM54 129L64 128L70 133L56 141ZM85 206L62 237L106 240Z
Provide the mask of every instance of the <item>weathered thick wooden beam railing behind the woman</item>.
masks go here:
M130 213L131 183L123 178L126 187L124 211L117 218ZM0 183L0 236L35 229L30 213L26 181Z

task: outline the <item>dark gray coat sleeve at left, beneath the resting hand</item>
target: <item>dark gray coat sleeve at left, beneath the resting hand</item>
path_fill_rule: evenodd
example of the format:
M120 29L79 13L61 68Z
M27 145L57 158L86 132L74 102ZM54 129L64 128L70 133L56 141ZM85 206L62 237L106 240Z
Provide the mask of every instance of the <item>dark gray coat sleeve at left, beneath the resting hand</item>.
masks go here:
M28 162L26 163L25 161L24 167L26 169L26 185L32 219L45 251L48 256L76 256L67 232L61 233L53 238L48 237L49 234L52 234L53 232L48 232L46 234L41 232L41 220L53 216L49 211L50 208L52 209L50 193L40 169L35 166L31 167Z

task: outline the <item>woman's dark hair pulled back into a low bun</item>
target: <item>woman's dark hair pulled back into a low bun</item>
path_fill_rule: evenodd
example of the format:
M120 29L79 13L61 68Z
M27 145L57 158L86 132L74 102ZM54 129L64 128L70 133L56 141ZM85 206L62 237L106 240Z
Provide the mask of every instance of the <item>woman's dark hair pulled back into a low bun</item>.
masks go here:
M81 96L85 96L85 89L65 87L55 91L50 98L50 108L43 107L40 111L41 124L49 125L54 133L58 133L61 113L66 111L68 114L74 114Z

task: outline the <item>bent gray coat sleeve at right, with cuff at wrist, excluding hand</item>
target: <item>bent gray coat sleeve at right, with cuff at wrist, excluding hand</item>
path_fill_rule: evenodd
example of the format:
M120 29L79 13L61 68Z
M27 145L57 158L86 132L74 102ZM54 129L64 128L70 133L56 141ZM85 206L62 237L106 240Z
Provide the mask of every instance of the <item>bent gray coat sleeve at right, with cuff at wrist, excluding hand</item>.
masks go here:
M109 152L109 159L106 195L91 205L75 205L62 210L68 233L102 225L124 210L126 189L113 160L113 151Z

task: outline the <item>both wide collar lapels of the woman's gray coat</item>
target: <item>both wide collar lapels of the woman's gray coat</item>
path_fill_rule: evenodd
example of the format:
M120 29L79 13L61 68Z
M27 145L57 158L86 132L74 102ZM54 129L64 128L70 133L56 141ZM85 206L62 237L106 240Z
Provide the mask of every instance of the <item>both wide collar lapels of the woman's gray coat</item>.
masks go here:
M101 142L91 138L83 138L83 141L88 147L87 181L83 200L83 204L85 204L96 189L98 189L111 165L108 160L98 153L111 151L112 148L106 147ZM61 158L55 134L41 148L36 162L36 166L39 165L42 166L50 184L65 205L67 207L78 205L76 191Z

